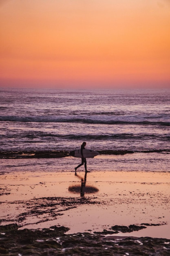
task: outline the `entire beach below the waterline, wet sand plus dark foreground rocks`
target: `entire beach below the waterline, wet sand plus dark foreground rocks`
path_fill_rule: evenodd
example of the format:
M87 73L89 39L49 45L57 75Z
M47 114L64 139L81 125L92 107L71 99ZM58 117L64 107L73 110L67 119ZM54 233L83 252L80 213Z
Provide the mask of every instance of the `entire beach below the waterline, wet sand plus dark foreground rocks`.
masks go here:
M170 255L168 172L26 171L1 173L0 179L2 252L4 248L15 255L13 245L6 248L4 242L13 237L17 248L29 243L27 255L33 255L50 233L53 242L46 249L57 254L49 255L69 255L71 244L72 255L86 255L89 243L105 252L100 248L103 254L94 254L91 249L89 255L137 255L138 249L143 253L139 255ZM22 245L16 241L18 236ZM80 247L85 248L83 252ZM47 255L46 249L40 255Z

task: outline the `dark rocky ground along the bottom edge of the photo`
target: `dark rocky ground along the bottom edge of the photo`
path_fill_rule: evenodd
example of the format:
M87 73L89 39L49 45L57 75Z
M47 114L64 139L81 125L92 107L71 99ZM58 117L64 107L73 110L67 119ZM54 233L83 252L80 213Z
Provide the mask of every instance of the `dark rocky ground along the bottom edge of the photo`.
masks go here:
M118 228L121 229L121 227ZM0 226L0 254L13 256L170 255L168 239L104 236L90 233L66 234L67 231L68 228L62 226L52 226L49 229L19 229L17 224Z

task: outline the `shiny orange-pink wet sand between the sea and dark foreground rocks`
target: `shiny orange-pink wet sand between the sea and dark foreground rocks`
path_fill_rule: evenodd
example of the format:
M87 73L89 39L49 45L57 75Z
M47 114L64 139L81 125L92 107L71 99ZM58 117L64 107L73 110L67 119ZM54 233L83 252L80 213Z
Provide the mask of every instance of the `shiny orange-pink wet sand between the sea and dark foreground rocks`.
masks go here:
M170 239L170 173L11 172L1 174L0 225L22 229L68 227L68 234L145 224L119 236ZM84 195L81 195L85 182ZM71 188L71 189L70 189ZM102 234L102 233L101 233Z

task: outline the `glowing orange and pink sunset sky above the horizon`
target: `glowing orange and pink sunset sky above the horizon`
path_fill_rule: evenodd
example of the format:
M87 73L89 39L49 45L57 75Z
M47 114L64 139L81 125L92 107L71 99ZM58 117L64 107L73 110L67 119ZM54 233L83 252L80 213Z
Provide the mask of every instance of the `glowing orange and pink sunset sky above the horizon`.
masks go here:
M0 87L170 88L170 0L0 0Z

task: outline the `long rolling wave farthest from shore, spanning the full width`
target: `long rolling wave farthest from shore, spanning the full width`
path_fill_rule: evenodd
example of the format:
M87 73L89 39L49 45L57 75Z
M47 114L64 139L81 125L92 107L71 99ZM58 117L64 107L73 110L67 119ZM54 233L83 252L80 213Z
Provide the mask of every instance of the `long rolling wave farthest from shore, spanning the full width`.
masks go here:
M148 121L148 120L97 120L87 118L62 118L62 117L16 117L16 116L0 116L0 121L11 122L39 122L39 123L83 123L83 124L139 124L139 125L161 125L170 126L169 121Z

